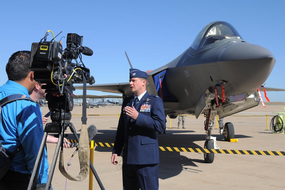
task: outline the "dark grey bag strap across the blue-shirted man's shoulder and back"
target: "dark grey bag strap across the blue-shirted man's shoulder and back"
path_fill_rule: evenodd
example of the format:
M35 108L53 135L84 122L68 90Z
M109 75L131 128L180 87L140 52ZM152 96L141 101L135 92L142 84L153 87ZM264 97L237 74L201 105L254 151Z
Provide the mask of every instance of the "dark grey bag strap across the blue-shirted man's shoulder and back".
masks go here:
M5 106L6 104L16 101L16 100L29 100L32 101L34 103L36 103L34 100L32 100L30 97L27 97L26 95L23 94L12 94L9 95L5 98L3 98L2 100L0 100L0 105L1 107ZM0 107L0 112L1 112L1 107ZM0 113L0 118L1 118L1 113ZM13 158L16 156L16 154L23 148L23 145L20 144L16 150L14 150L14 152L10 155L10 160L13 160Z

